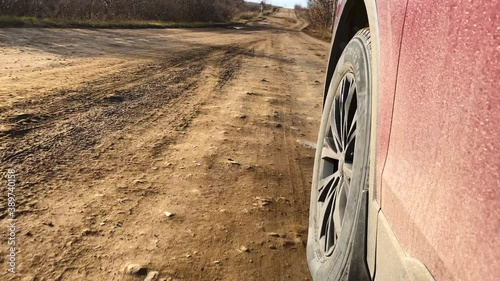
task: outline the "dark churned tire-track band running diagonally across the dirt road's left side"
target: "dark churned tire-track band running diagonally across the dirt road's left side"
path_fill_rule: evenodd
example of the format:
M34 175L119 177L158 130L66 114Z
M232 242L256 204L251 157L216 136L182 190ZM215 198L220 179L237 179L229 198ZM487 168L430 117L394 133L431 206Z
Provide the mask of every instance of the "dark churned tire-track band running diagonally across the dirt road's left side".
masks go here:
M107 77L104 81L92 81L80 89L63 90L17 104L5 110L0 118L4 121L2 125L8 128L0 132L0 168L25 167L19 173L25 180L23 186L29 190L26 194L29 198L44 181L60 174L67 166L77 165L74 163L77 155L99 157L98 153L89 151L101 138L127 125L143 122L172 99L198 87L198 81L203 80L199 76L206 67L206 58L214 54L222 56L218 82L222 87L237 68L234 61L242 50L241 46L190 50L158 64ZM200 58L205 59L200 61ZM177 126L186 127L185 119ZM26 199L18 198L20 207ZM5 215L3 210L0 217Z

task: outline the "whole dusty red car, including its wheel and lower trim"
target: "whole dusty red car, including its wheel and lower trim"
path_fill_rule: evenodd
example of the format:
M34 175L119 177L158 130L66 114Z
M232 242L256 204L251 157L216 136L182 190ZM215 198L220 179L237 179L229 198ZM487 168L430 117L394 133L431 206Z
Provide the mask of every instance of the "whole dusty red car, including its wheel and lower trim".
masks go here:
M314 280L500 280L500 2L341 0Z

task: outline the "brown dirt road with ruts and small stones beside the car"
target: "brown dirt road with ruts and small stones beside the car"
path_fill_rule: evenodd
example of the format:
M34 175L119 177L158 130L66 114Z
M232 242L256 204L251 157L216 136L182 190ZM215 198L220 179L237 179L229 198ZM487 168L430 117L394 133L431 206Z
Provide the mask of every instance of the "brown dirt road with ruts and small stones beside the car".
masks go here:
M0 29L0 279L307 280L328 46L301 26Z

